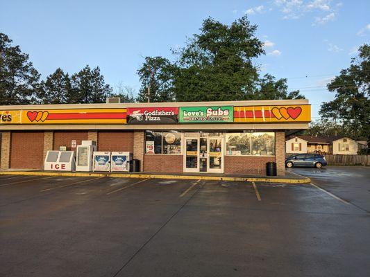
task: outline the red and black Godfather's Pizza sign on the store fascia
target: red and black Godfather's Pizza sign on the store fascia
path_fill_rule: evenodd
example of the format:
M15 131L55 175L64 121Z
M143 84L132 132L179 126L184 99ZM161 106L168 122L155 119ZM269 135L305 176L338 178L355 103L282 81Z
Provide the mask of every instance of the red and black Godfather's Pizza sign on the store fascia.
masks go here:
M177 123L178 107L128 108L128 124Z

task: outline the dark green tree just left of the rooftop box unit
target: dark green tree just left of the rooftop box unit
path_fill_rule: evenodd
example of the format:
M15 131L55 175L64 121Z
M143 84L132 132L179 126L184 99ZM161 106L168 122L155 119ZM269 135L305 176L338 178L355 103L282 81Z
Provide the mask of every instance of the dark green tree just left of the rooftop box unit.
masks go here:
M99 66L90 69L85 66L78 73L72 75L72 95L69 103L102 103L110 96L112 88L104 82Z

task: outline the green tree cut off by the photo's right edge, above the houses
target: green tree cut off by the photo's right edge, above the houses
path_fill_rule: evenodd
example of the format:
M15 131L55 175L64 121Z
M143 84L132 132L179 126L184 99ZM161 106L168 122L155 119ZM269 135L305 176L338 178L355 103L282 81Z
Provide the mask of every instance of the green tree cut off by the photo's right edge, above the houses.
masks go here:
M359 52L351 65L328 84L335 98L321 105L320 114L338 120L351 130L353 139L366 139L370 146L370 46L360 46Z

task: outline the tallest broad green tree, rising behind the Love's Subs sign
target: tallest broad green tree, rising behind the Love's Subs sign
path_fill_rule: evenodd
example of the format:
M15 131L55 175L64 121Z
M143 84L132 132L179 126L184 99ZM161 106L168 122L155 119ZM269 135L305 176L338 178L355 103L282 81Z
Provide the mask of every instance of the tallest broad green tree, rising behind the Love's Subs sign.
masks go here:
M246 16L230 26L215 19L203 21L178 55L174 91L178 101L244 100L258 82L253 58L264 54L255 37L256 25Z

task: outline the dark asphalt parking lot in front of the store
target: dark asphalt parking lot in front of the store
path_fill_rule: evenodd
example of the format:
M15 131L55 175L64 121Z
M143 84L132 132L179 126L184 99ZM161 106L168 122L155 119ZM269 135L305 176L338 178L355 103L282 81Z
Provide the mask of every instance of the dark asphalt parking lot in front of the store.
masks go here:
M2 175L0 276L369 276L368 184L334 179Z

